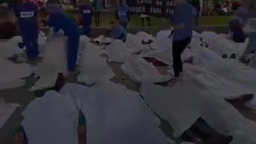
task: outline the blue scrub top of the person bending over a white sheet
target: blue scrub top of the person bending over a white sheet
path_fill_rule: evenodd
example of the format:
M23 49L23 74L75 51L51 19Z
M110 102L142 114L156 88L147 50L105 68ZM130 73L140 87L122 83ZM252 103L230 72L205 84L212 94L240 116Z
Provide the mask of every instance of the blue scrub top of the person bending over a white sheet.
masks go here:
M76 23L70 17L62 13L50 14L48 26L53 27L54 32L63 30L66 36L74 36L79 34Z

